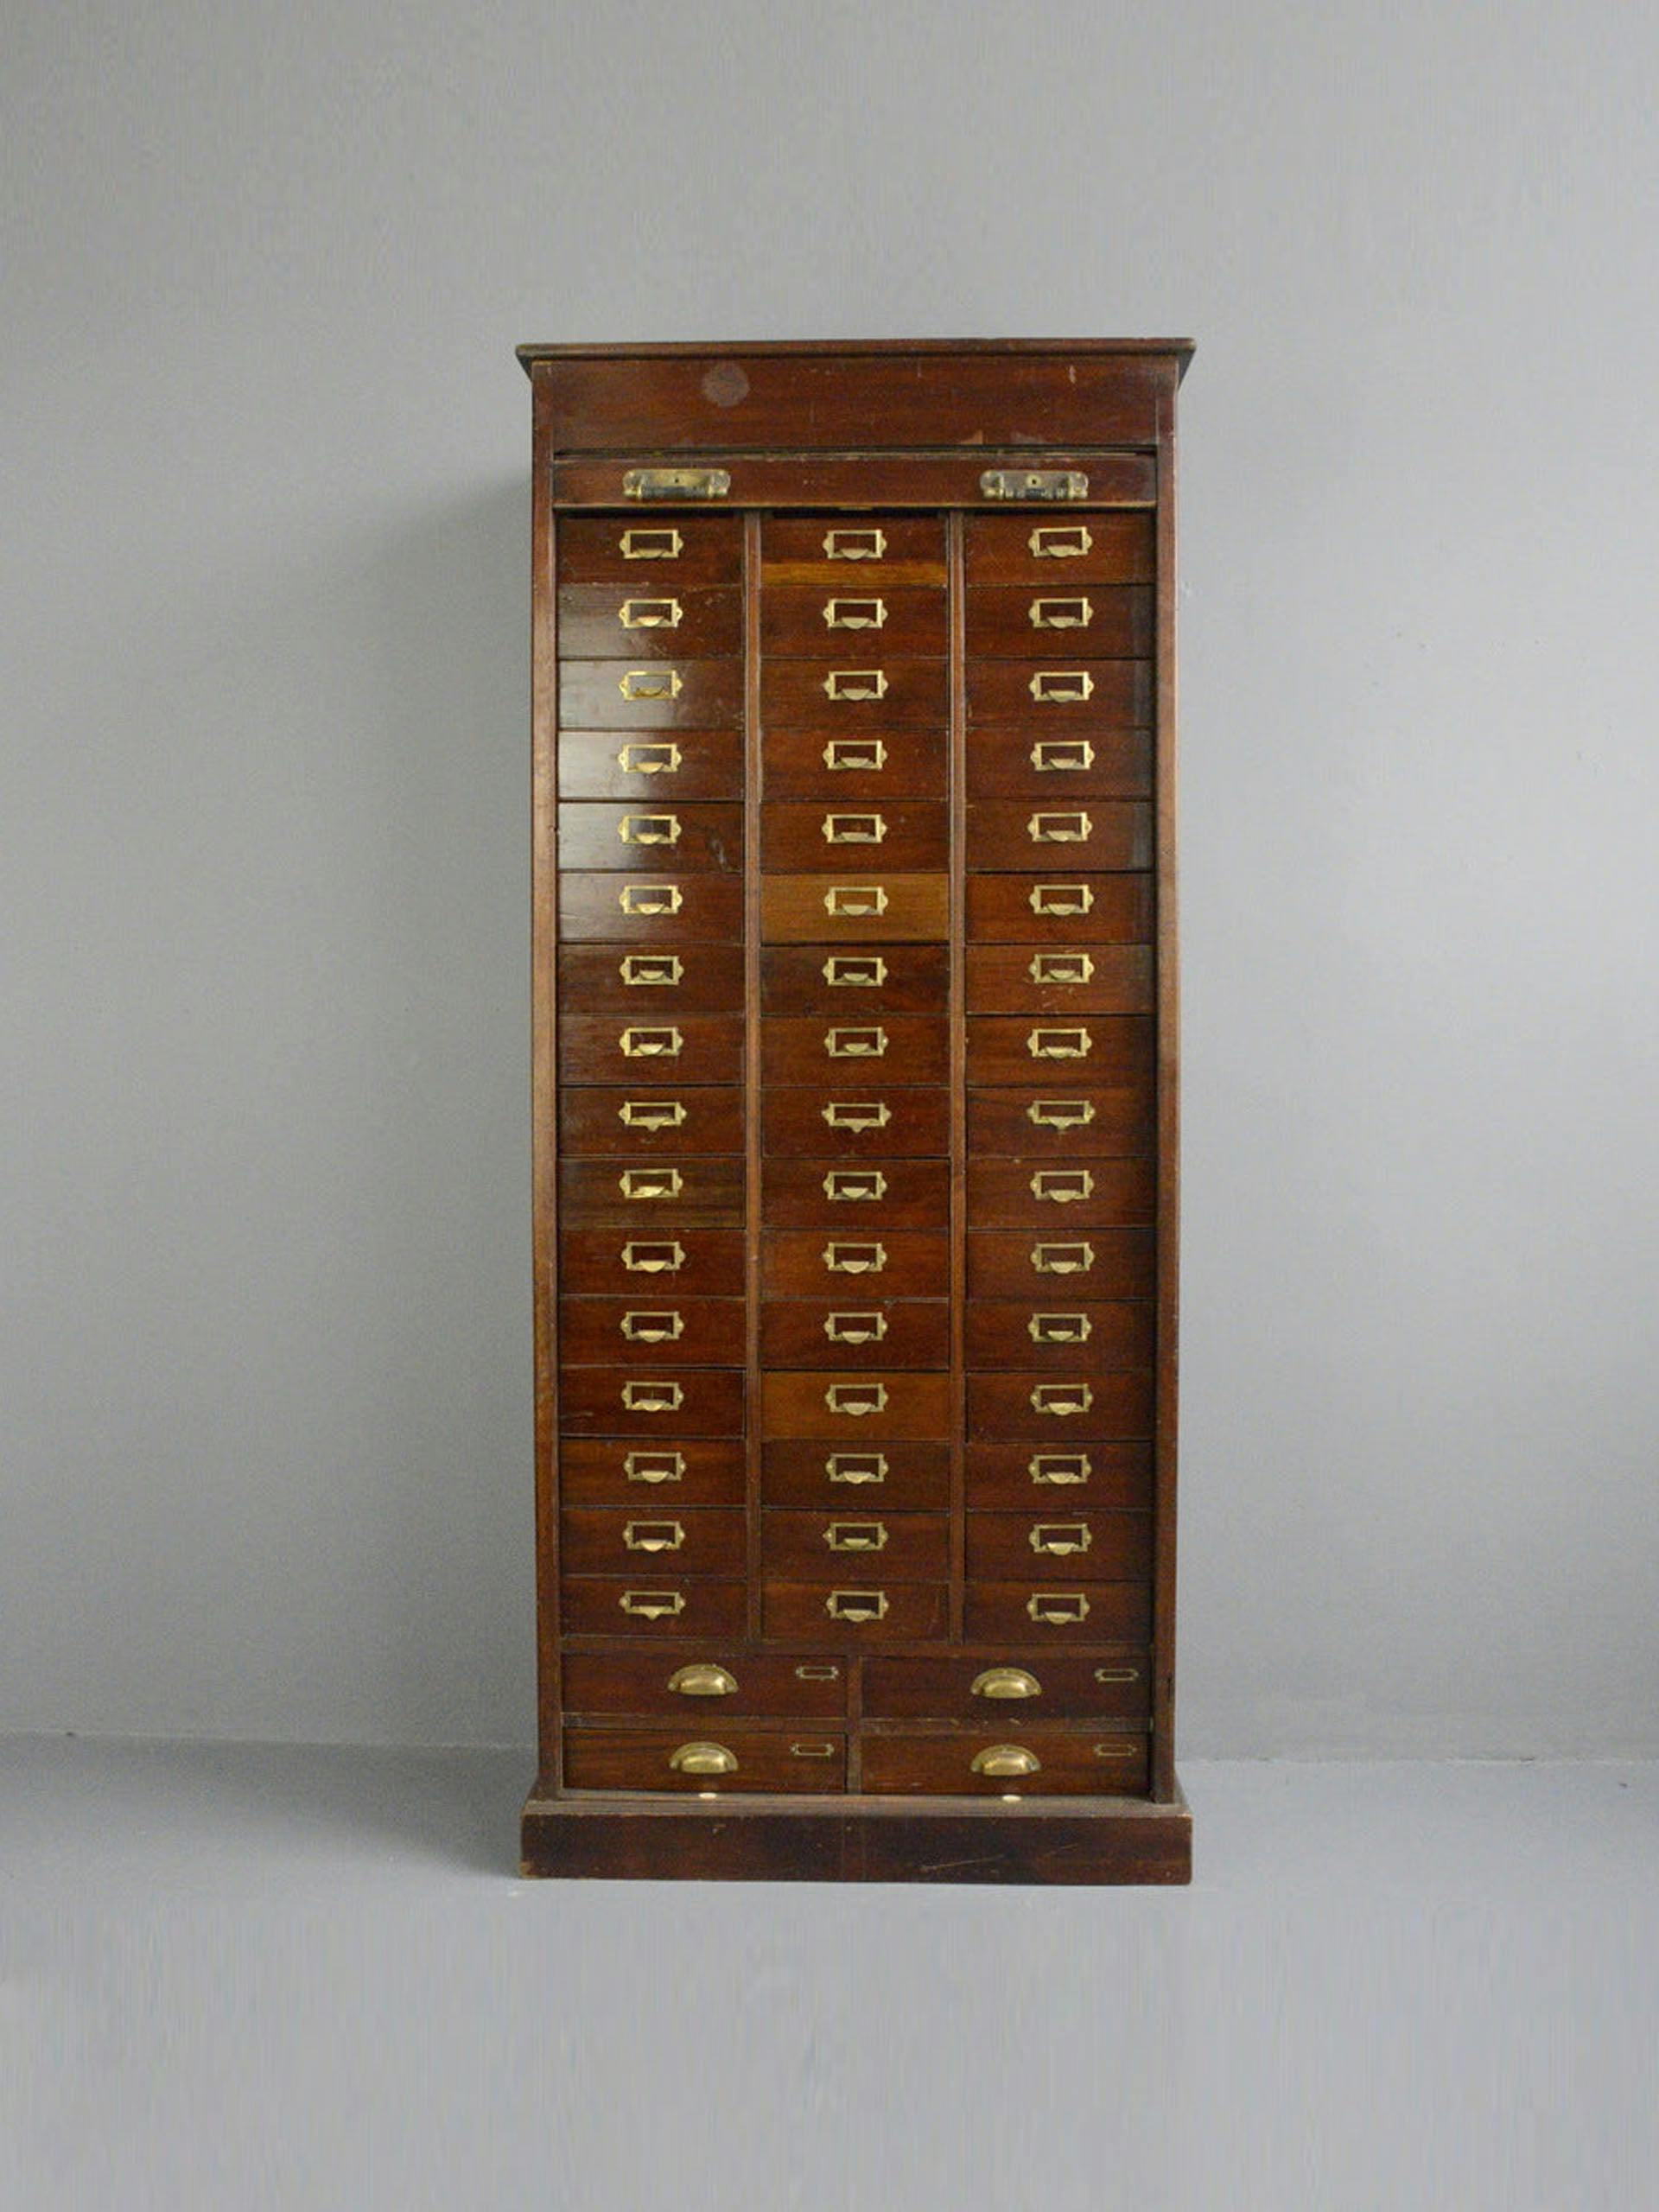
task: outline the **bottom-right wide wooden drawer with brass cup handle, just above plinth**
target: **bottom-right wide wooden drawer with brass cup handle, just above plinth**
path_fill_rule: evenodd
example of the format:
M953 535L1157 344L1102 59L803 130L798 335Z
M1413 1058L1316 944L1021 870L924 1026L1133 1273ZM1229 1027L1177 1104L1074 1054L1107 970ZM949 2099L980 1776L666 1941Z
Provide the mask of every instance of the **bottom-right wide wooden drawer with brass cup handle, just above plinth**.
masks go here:
M1139 1730L1020 1728L1006 1734L916 1730L863 1739L865 1790L874 1796L1144 1796Z

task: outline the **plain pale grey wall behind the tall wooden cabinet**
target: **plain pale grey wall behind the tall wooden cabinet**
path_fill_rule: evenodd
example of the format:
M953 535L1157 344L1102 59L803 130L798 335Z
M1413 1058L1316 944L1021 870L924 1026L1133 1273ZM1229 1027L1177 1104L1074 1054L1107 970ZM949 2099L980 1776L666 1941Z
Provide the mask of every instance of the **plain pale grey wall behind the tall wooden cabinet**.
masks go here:
M1186 1745L1659 1747L1659 18L4 15L0 1725L529 1734L513 341L1190 330Z

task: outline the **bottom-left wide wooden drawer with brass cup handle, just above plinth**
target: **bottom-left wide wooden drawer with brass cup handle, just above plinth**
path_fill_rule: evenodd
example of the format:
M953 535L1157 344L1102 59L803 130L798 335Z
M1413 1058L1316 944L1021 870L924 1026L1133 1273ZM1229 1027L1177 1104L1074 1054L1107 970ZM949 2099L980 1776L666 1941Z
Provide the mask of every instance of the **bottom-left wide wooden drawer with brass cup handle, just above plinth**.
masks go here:
M708 1723L708 1734L701 1734L701 1723ZM838 1792L847 1787L847 1739L812 1723L728 1728L717 1712L686 1714L679 1730L577 1725L564 1734L564 1787L692 1796Z

